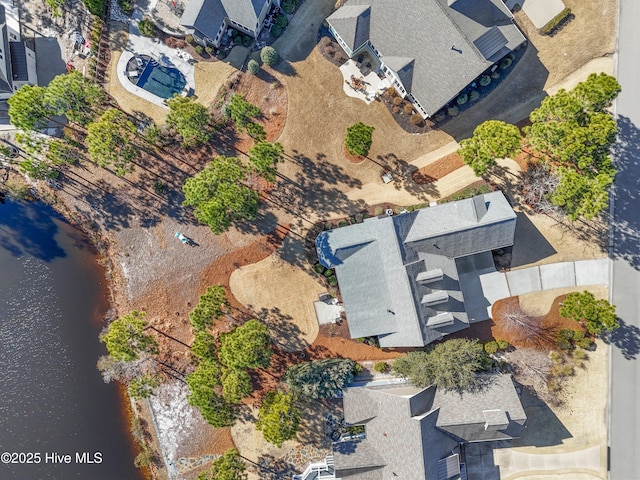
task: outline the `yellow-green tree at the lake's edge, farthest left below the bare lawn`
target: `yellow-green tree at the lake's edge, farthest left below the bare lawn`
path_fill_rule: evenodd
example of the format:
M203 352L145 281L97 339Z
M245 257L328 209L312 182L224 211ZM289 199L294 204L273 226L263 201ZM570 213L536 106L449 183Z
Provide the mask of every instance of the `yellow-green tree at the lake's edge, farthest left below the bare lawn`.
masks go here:
M153 337L144 333L147 328L147 314L133 310L109 324L100 336L109 355L114 360L130 362L142 353L157 353L158 344Z

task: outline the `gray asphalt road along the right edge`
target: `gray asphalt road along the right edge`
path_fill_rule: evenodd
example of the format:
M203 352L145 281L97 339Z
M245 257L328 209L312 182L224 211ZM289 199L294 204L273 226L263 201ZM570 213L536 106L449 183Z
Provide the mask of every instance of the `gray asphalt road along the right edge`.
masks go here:
M640 2L621 0L614 159L612 300L621 327L612 338L610 478L640 480Z

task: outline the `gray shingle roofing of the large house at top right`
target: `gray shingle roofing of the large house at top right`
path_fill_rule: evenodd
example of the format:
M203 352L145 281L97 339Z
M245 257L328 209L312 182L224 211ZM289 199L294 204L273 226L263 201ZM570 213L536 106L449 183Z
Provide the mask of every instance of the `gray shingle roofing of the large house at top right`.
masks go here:
M327 21L348 42L354 37L354 26L334 19L343 18L342 9L370 6L369 40L385 64L389 57L415 60L410 75L412 83L405 88L432 115L525 40L502 0L457 0L451 6L449 3L349 0ZM487 59L473 42L494 26L498 26L507 43ZM495 46L495 42L491 45Z

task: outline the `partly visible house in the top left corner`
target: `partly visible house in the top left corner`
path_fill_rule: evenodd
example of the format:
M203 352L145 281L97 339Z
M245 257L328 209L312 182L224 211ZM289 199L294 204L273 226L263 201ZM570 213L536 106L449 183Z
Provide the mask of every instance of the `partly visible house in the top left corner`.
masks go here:
M22 85L37 85L36 55L20 35L20 16L11 3L0 2L0 100Z

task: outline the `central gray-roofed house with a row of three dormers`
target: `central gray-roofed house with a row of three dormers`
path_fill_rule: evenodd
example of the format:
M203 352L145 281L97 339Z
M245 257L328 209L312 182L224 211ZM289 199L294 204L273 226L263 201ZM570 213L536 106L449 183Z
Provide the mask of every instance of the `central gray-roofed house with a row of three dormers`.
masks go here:
M335 269L351 338L421 347L488 318L479 276L515 226L498 191L327 230L316 251Z

